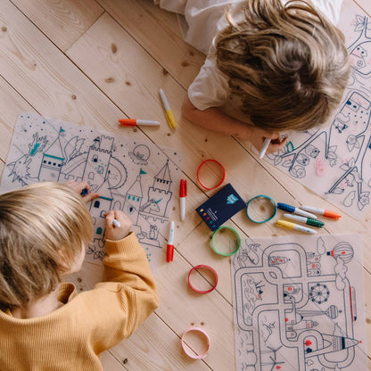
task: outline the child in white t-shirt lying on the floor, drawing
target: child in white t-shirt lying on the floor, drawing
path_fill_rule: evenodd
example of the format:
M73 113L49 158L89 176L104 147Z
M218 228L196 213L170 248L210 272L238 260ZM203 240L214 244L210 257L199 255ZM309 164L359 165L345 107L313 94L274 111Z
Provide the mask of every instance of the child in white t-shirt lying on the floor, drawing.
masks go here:
M339 19L342 0L158 0L178 13L185 41L207 54L188 88L185 118L247 138L268 153L280 132L326 122L350 74ZM237 98L240 114L220 109Z

